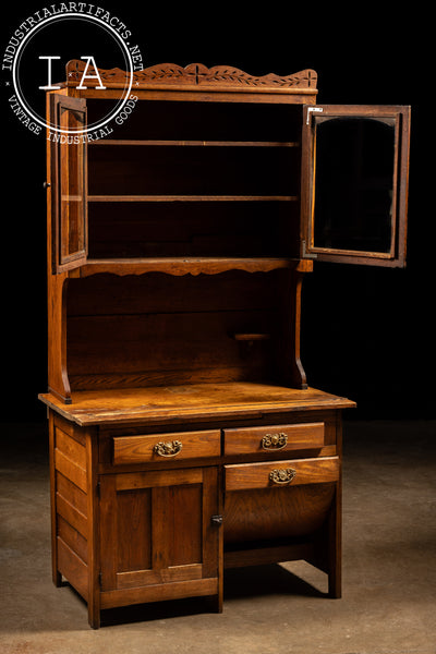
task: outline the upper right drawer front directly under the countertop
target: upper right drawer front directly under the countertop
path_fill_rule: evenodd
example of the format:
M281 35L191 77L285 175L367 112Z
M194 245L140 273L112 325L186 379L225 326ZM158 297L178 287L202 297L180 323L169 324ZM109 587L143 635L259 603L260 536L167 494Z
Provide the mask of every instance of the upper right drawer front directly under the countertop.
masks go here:
M324 446L324 422L225 431L225 453L268 455L278 451L319 449Z

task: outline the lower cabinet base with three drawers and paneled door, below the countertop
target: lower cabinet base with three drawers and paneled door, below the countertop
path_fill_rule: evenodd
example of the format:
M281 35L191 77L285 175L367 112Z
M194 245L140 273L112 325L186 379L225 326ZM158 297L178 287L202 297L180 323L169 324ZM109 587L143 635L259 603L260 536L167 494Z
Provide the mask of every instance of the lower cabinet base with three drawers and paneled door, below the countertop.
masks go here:
M292 559L339 597L340 414L307 417L121 434L50 411L55 583L86 600L94 628L102 609L164 600L209 596L219 611L225 568Z

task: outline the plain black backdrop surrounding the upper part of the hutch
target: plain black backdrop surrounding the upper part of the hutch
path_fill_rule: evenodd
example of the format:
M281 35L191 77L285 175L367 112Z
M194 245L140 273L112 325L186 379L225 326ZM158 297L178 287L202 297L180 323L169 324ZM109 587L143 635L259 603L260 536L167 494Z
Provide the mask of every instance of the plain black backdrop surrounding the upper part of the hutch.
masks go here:
M274 2L100 5L133 32L144 66L230 64L257 75L313 68L319 104L412 106L408 266L315 263L303 286L302 362L311 386L358 402L349 419L434 417L434 56L428 21L413 8L405 14L383 3L348 3L347 9ZM20 23L43 7L8 5L2 53ZM388 11L391 7L395 11ZM1 89L2 420L44 421L37 393L47 389L46 141L13 116L3 76Z

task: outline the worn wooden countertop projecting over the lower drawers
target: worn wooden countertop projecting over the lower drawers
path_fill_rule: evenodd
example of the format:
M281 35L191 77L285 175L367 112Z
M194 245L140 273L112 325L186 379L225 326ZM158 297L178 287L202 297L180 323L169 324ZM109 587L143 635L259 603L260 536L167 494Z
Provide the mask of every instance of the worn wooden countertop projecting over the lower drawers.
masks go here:
M149 423L192 420L262 417L266 413L347 409L355 403L322 390L287 388L271 384L231 382L72 392L64 404L52 393L39 399L78 425Z

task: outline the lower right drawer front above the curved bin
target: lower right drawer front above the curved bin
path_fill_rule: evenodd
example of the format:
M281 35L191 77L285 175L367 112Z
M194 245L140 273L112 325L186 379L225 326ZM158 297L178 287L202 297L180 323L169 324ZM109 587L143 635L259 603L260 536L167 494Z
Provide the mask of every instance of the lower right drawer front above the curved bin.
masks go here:
M323 484L339 480L338 457L296 459L269 463L226 465L226 491L286 488L301 484Z

